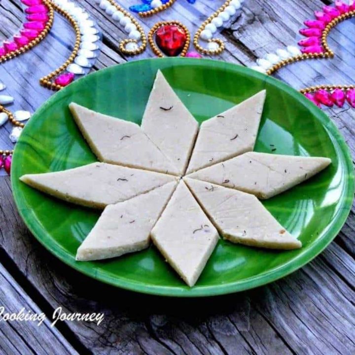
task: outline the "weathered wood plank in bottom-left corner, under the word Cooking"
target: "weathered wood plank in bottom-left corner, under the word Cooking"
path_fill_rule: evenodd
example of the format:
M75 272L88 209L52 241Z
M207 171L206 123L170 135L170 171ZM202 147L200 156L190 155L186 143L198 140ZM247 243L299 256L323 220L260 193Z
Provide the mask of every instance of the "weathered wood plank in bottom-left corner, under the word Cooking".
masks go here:
M3 354L77 354L51 322L4 320L6 313L44 314L0 264L0 351Z

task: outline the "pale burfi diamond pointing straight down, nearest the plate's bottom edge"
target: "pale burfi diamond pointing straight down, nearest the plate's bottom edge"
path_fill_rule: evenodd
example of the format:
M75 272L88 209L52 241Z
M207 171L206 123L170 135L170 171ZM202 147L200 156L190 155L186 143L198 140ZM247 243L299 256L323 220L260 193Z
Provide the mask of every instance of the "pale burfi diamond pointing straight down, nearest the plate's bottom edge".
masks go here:
M151 238L183 281L193 286L218 241L218 233L181 180Z

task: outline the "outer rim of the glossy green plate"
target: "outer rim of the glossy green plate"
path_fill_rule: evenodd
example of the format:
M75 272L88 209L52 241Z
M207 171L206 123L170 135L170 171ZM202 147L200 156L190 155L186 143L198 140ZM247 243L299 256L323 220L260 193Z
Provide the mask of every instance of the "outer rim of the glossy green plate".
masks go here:
M162 61L162 62L171 62L171 66L174 65L175 63L177 64L186 64L186 65L195 65L195 66L201 66L201 67L219 67L219 69L227 70L227 71L234 71L234 72L247 72L249 76L256 77L258 79L261 79L265 83L277 83L278 88L281 90L287 92L289 95L295 97L298 101L303 103L305 106L307 106L310 111L316 116L316 119L320 121L320 123L323 125L323 127L327 130L329 136L333 139L336 140L337 144L340 147L341 152L344 155L345 159L345 166L347 167L349 171L349 176L347 178L347 184L345 186L346 189L346 194L344 195L342 204L339 206L339 209L336 213L336 215L333 217L332 222L328 224L327 230L324 233L324 235L310 248L305 250L303 253L298 254L295 258L292 260L289 260L288 262L284 263L283 265L274 268L270 270L267 273L264 274L259 274L252 276L250 278L244 279L243 281L236 281L233 283L228 283L228 284L219 284L219 285L209 285L209 286L199 286L198 288L191 287L191 288L176 288L176 286L163 286L163 285L146 285L143 284L142 282L135 282L132 280L125 280L122 277L112 277L108 275L107 273L105 274L105 277L101 277L101 272L95 269L93 266L88 266L86 263L80 263L78 264L75 259L72 258L71 255L67 251L64 251L63 249L59 248L58 243L54 242L49 236L47 236L47 233L42 233L40 228L36 228L35 225L32 225L31 220L27 219L28 213L26 211L25 206L23 206L21 202L21 197L20 193L16 188L15 184L15 179L12 178L13 175L11 175L11 189L15 201L15 205L17 207L17 210L25 222L27 228L29 228L30 232L32 235L36 238L39 243L44 246L45 249L50 251L53 255L55 255L58 259L60 259L62 262L65 264L69 265L76 271L91 277L95 280L98 280L100 282L104 282L106 284L110 284L112 286L120 287L123 289L127 289L130 291L135 291L135 292L140 292L140 293L145 293L145 294L152 294L152 295L159 295L159 296L170 296L170 297L207 297L207 296L217 296L217 295L222 295L222 294L228 294L228 293L234 293L234 292L240 292L244 291L247 289L255 288L258 286L262 286L265 284L269 284L271 282L274 282L276 280L279 280L292 272L300 269L310 261L312 261L316 256L318 256L333 240L334 238L338 235L339 231L343 227L344 223L346 222L346 219L351 211L352 203L353 203L353 196L355 193L355 183L354 183L354 169L352 164L350 162L353 161L351 153L350 153L350 148L346 144L343 136L341 135L340 131L336 127L333 121L322 111L320 108L312 104L304 95L299 93L297 90L293 89L292 87L288 86L286 83L283 81L276 79L272 76L265 75L263 73L259 73L257 71L254 71L250 68L243 67L236 65L234 63L228 63L228 62L223 62L223 61L217 61L217 60L212 60L212 59L203 59L203 60L196 60L194 58L149 58L149 59L142 59L142 60L137 60L137 61L131 61L131 62L126 62L122 64L116 64L114 66L102 69L100 71L95 71L93 73L90 73L89 75L86 75L82 78L79 78L75 80L73 83L71 83L69 86L65 87L64 89L60 90L56 94L52 95L49 99L47 99L40 107L36 109L36 112L34 113L33 116L36 116L37 114L40 113L40 111L44 110L46 106L51 105L52 101L56 100L57 95L65 95L62 94L63 92L65 93L68 87L75 86L77 85L78 82L81 82L82 80L87 80L88 77L92 77L95 75L98 75L98 73L102 71L114 71L116 67L121 67L121 66L131 66L131 65L140 65L142 62L151 62L151 61ZM32 117L33 119L33 117ZM26 130L27 126L31 126L32 120L28 122L28 124L25 125L24 130ZM20 136L21 140L21 136ZM17 159L16 159L16 152L17 152L17 145L15 146L14 153L13 153L13 161L12 161L12 170L16 170L17 166ZM338 154L337 154L338 155ZM37 233L39 234L37 236ZM44 238L43 238L44 236ZM46 243L47 241L47 243Z

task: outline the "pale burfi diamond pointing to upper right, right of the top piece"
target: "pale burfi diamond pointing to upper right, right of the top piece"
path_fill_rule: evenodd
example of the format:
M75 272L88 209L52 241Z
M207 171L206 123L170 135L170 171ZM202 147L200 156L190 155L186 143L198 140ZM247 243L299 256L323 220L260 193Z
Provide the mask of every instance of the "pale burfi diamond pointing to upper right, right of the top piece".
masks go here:
M254 149L266 90L202 122L187 174Z

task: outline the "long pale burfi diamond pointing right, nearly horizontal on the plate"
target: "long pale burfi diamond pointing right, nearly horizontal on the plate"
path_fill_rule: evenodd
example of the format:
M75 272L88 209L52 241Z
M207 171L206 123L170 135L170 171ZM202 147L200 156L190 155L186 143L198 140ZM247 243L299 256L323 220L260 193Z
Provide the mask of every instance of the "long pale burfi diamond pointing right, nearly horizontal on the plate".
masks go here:
M188 177L267 199L313 177L330 163L329 158L248 152Z

